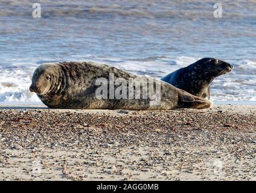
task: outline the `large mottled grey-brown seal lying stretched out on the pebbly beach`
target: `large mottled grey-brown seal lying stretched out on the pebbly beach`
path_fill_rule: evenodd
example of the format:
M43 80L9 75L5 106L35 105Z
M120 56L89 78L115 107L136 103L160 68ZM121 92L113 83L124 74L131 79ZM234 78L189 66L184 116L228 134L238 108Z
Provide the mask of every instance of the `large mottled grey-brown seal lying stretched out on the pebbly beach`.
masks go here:
M110 74L114 74L116 80L122 78L129 81L129 78L138 78L115 67L92 62L46 63L35 70L30 91L36 92L46 106L59 109L171 110L204 109L212 105L208 100L193 96L160 80L155 82L155 85L159 84L161 88L161 92L158 93L161 101L156 106L150 106L152 99L144 98L142 95L135 99L110 98L109 90L109 98L99 99L95 93L103 85L99 85L97 81L101 78L110 81ZM145 79L142 83L149 85ZM117 85L114 89L117 91ZM125 89L121 92L129 92L131 88Z

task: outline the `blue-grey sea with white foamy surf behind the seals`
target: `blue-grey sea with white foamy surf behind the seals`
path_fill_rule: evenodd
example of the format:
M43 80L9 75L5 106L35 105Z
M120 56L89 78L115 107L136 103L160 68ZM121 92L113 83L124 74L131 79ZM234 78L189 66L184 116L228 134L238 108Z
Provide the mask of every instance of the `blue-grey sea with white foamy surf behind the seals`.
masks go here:
M85 60L162 77L202 57L234 64L213 101L256 101L256 3L216 1L0 1L0 101L39 101L31 74L45 62Z

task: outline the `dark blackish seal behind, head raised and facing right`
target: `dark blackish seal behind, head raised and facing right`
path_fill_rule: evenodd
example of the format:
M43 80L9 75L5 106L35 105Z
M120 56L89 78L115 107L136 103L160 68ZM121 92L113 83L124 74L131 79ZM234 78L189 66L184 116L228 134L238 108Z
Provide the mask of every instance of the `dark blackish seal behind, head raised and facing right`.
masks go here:
M214 78L226 74L233 66L219 59L204 58L161 78L179 89L193 95L210 99L210 83Z

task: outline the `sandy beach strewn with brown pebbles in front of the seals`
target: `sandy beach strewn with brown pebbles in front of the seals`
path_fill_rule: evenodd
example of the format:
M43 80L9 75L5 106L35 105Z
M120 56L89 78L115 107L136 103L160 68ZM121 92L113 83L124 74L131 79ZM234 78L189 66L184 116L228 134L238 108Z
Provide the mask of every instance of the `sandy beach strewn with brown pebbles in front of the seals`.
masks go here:
M256 180L256 106L0 106L0 180Z

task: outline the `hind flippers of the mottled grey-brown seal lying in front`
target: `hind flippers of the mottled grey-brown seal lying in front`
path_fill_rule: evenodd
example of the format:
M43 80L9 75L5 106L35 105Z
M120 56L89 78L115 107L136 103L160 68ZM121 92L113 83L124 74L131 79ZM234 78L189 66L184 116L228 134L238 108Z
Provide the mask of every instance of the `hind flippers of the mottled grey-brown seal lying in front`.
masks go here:
M207 109L213 106L211 101L184 92L178 94L178 107L191 109Z

